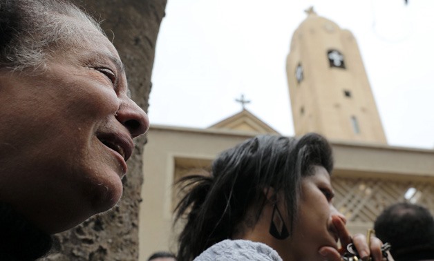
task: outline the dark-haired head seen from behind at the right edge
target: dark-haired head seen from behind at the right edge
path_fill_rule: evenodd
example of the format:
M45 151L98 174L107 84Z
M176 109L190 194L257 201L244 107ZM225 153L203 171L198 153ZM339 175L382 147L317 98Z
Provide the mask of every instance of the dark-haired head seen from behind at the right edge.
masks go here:
M434 259L434 219L423 206L392 204L377 217L374 229L377 238L390 243L396 261Z

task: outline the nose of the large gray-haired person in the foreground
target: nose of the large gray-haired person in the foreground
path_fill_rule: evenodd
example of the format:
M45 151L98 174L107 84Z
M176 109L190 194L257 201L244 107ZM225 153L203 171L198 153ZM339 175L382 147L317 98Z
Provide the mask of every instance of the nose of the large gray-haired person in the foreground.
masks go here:
M116 113L116 119L131 133L131 137L138 137L148 131L148 115L131 99L124 101Z

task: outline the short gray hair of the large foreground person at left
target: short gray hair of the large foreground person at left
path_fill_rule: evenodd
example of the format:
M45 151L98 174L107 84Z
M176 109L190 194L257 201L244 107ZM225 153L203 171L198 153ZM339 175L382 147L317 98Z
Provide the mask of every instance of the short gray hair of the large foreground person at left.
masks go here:
M0 70L43 70L57 50L78 47L86 34L68 18L102 32L97 21L64 0L0 0Z

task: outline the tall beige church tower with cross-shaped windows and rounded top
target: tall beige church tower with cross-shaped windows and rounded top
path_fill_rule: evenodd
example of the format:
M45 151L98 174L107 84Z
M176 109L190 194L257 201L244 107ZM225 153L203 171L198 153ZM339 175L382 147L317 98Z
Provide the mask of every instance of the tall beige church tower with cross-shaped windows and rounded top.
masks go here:
M287 56L295 135L386 144L355 37L310 8Z

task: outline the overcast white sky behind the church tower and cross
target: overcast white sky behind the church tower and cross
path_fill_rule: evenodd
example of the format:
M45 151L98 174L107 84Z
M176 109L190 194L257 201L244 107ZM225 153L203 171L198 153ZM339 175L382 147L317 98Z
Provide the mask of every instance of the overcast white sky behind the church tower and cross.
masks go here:
M151 124L206 128L241 110L294 135L285 59L310 6L356 37L388 144L434 148L433 0L168 0Z

